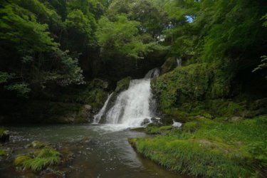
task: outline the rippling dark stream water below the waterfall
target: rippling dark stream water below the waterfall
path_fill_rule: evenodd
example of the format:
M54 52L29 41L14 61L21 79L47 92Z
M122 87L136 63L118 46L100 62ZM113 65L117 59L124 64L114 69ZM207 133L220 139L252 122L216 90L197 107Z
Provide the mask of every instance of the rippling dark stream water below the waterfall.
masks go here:
M66 172L66 177L184 177L168 172L136 154L127 139L145 136L142 132L115 131L112 125L49 125L8 129L14 136L5 147L14 150L14 155L23 154L23 146L33 140L51 142L61 150L73 152L74 158L59 168ZM90 142L80 142L85 137L90 137ZM11 167L11 162L3 160L0 174L1 177L19 176Z

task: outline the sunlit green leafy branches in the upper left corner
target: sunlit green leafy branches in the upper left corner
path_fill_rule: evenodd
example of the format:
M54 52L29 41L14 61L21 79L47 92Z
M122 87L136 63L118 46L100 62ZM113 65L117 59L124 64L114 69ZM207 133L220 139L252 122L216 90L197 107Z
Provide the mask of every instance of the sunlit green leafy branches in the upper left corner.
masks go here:
M54 51L58 43L48 32L48 25L38 23L36 16L17 4L0 9L1 43L14 46L19 53ZM33 45L34 44L34 45Z

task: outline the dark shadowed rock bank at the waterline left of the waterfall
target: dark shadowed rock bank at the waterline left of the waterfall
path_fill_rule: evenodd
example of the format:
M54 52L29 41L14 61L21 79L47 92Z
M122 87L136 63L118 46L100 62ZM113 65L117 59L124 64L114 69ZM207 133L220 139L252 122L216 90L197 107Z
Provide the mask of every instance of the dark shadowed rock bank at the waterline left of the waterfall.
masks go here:
M4 123L86 123L88 118L94 115L91 105L80 103L33 101L27 104L23 105L21 110L8 115L3 120Z

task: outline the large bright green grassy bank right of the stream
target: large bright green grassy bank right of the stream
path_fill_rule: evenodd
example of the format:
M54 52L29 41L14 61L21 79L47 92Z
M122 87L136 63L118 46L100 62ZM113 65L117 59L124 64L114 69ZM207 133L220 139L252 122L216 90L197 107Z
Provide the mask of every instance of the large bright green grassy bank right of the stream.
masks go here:
M164 135L130 143L137 152L176 172L199 177L257 177L267 166L266 127L266 115L233 123L202 118L187 122L182 130L167 130Z

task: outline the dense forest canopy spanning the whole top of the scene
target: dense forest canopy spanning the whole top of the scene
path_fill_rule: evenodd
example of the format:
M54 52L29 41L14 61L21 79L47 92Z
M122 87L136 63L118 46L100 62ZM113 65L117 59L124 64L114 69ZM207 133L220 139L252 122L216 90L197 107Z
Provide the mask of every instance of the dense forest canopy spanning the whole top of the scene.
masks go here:
M140 78L169 57L208 63L214 95L266 76L264 0L3 0L1 93ZM258 65L261 70L251 71Z

